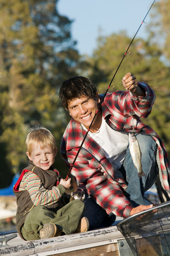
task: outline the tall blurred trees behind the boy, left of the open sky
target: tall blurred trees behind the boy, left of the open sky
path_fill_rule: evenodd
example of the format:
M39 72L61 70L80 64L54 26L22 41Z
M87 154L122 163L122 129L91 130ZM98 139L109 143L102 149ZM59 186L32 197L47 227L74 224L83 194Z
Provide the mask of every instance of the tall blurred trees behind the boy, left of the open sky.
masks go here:
M4 169L15 173L27 163L29 127L47 127L60 145L65 113L58 88L76 75L79 61L71 23L58 14L57 0L0 0L0 186L8 182Z

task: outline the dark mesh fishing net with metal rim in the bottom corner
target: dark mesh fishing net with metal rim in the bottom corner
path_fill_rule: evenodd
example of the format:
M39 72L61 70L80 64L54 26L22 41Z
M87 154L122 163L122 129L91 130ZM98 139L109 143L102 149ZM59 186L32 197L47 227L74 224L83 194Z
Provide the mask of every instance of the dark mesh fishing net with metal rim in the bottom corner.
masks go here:
M136 213L117 224L134 256L170 255L170 202Z

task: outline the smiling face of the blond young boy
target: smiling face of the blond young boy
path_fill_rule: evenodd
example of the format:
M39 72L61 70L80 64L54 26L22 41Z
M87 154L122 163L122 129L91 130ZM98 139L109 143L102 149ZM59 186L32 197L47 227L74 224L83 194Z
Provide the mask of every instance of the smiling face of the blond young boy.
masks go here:
M52 147L48 144L44 149L42 149L39 143L34 143L31 148L31 154L29 155L28 152L26 152L26 154L29 160L34 163L34 165L40 167L43 170L48 170L54 163L56 152L54 152Z

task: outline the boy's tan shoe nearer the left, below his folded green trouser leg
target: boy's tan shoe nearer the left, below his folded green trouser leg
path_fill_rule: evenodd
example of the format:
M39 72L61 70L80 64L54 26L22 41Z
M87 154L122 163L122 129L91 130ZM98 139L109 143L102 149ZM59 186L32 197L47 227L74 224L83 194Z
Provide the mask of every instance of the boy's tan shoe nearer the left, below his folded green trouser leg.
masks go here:
M61 233L62 233L62 230L60 230L53 223L46 223L39 230L40 239L50 238L50 237L54 237L54 236L59 236L59 235L61 235Z

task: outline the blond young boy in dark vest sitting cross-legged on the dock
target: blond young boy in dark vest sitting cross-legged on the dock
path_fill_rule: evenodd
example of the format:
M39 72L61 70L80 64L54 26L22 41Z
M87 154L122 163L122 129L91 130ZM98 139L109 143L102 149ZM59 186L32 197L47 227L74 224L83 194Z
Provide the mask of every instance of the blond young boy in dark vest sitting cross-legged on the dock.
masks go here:
M28 166L13 187L17 197L16 229L24 240L49 238L88 230L81 200L69 202L70 187L54 169L55 139L45 128L31 129L26 138Z

